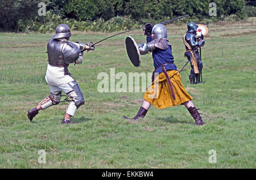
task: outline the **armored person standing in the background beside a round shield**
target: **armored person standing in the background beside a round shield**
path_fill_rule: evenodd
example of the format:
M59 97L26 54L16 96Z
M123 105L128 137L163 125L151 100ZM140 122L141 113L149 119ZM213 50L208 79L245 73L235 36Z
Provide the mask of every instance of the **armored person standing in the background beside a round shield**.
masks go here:
M183 37L183 42L185 44L186 52L185 57L191 63L191 71L189 74L189 81L191 84L199 84L200 75L203 68L203 63L201 62L201 57L199 55L199 48L204 46L204 36L196 38L196 29L198 25L195 23L188 23L188 31L185 33Z

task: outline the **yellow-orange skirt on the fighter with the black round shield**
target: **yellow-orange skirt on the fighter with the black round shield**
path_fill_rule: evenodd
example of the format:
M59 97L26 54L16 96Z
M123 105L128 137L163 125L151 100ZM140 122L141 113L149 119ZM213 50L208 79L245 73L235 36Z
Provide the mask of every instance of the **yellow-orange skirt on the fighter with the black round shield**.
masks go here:
M170 87L163 72L156 76L154 82L147 89L143 97L144 100L156 106L158 109L180 105L193 99L181 84L181 76L178 71L169 70L167 74L174 88L176 100L171 95Z

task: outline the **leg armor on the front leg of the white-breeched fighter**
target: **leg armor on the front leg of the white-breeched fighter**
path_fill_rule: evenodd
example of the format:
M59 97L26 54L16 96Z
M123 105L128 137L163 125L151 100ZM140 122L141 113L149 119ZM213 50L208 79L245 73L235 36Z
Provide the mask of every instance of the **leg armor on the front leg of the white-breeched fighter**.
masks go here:
M70 82L68 85L73 89L71 92L68 92L67 95L71 98L71 102L68 104L66 113L74 116L77 109L84 104L84 96L82 95L79 84L76 82Z

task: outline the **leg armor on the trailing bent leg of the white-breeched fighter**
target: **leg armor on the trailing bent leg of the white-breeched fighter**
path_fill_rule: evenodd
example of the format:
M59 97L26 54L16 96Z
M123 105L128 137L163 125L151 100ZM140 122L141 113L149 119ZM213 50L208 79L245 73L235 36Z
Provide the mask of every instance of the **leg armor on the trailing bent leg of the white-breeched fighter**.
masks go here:
M44 100L40 102L42 109L46 109L49 106L59 104L60 98L61 91L51 92L51 95L44 98Z

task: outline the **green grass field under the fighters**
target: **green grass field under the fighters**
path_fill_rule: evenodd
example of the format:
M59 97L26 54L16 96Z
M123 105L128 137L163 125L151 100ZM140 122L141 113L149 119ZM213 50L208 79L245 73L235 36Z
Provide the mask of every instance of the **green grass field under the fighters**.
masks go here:
M256 25L213 24L202 50L203 81L181 80L205 121L194 126L188 110L151 107L144 119L129 122L141 106L143 92L100 93L100 72L152 72L150 54L134 67L125 37L146 41L141 29L102 42L84 54L69 72L85 97L71 125L61 125L67 103L40 111L32 122L27 111L49 96L44 76L46 45L52 34L0 33L0 168L256 168L255 92ZM175 63L184 58L186 25L168 25ZM114 33L74 32L71 41L98 41ZM116 81L116 83L118 80ZM38 151L46 151L39 163ZM209 163L214 149L216 163Z

